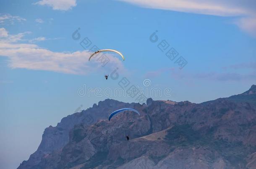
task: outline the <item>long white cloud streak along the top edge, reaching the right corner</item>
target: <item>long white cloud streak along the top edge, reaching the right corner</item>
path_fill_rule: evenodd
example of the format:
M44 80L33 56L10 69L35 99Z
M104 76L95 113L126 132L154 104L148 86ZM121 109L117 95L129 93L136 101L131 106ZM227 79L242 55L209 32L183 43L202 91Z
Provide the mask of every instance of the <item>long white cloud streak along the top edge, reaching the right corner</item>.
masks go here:
M239 16L235 23L242 30L256 36L255 0L120 0L144 8L173 10L217 16Z

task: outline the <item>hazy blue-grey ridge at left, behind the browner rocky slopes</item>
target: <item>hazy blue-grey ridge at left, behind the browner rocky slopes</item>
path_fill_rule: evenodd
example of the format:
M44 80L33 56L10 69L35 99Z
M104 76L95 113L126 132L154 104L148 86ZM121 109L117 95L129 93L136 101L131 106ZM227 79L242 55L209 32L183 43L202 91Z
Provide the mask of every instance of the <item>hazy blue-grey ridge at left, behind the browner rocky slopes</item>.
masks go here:
M69 132L77 124L89 126L99 119L107 119L108 115L117 108L133 108L135 103L123 103L106 99L94 104L92 108L64 117L56 127L49 126L44 130L41 144L36 152L31 154L28 161L23 161L18 169L29 169L36 166L44 157L62 149L69 142Z

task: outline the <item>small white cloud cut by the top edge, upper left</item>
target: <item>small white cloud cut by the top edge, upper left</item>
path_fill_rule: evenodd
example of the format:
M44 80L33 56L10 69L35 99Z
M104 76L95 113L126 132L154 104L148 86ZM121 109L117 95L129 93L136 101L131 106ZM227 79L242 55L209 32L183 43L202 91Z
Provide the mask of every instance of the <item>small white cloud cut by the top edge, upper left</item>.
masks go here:
M76 0L40 0L35 4L47 5L53 10L70 10L76 6Z

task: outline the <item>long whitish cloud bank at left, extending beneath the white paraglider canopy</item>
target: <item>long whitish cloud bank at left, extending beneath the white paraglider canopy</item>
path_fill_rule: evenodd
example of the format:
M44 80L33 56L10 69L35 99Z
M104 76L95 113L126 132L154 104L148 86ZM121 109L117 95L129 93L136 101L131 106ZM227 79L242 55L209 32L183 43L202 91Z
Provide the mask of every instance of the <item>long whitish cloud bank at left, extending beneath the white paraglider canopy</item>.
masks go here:
M19 33L18 35L25 34ZM91 70L102 71L103 69L104 71L110 71L117 67L119 68L118 70L124 71L122 61L112 55L107 55L110 61L103 68L99 60L99 55L89 63L88 58L91 53L88 50L54 52L40 48L35 44L17 43L19 40L23 40L21 38L15 41L8 39L10 37L17 37L18 35L8 35L7 38L0 38L0 56L7 56L9 58L8 66L11 68L26 68L71 74L87 74Z

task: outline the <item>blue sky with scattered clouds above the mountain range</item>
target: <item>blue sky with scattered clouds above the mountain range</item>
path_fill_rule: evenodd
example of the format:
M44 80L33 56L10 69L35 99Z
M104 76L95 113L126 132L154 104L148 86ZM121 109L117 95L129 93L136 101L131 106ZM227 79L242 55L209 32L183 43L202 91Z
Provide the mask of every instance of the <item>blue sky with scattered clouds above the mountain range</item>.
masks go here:
M0 168L17 168L46 127L107 98L201 103L256 84L254 0L0 4ZM125 61L88 61L98 49Z

